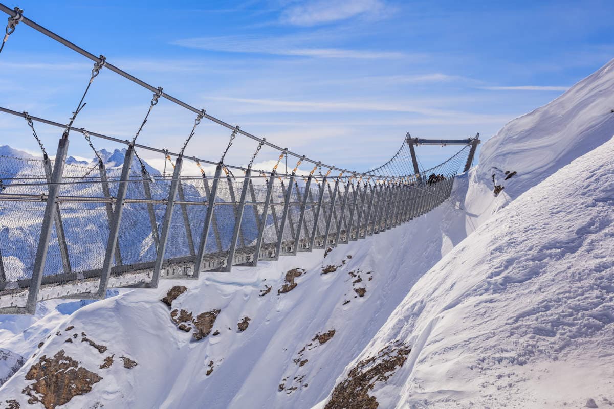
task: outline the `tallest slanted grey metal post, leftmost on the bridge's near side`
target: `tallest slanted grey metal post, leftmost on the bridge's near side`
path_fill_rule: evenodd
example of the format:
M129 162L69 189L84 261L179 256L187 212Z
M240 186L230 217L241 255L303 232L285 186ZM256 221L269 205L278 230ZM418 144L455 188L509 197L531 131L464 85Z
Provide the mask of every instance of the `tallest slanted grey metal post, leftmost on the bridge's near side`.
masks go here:
M60 185L58 183L62 181L67 151L68 137L63 136L60 139L60 143L58 143L58 151L55 155L55 164L53 165L53 173L51 175L52 183L49 185L49 196L47 197L47 204L45 204L41 235L39 236L39 243L36 248L34 269L30 280L30 288L28 289L28 299L26 300L25 309L29 314L34 314L36 310L36 301L38 300L39 289L41 289L42 273L45 270L45 261L47 261L47 250L49 249L52 223L55 221L55 214L58 210L57 196L60 190Z

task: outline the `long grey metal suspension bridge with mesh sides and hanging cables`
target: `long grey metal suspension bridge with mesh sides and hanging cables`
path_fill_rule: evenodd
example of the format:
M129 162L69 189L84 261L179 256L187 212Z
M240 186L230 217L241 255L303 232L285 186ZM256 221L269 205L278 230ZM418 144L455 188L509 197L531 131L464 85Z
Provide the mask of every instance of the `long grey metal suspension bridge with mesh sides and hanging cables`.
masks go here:
M0 313L32 314L39 300L102 299L109 288L156 288L165 278L198 279L204 272L255 267L259 261L378 235L448 199L454 177L472 166L480 143L479 134L450 140L406 134L382 166L362 172L341 169L281 148L170 96L29 20L18 7L0 4L0 10L9 16L0 58L6 57L2 50L21 24L94 63L68 124L0 107L2 113L25 120L42 151L42 159L0 156ZM153 93L131 140L74 126L103 69ZM162 98L196 115L177 152L137 142ZM219 160L187 153L203 120L230 132ZM62 130L53 157L37 136L40 124ZM94 166L66 161L71 135L87 140L97 157ZM255 140L257 148L245 166L227 164L225 156L240 138ZM105 164L93 139L124 145L123 164ZM462 148L440 165L420 169L415 147L423 144ZM279 155L271 170L253 168L263 149ZM143 151L163 155L172 172L148 167L139 156ZM278 170L284 158L296 159L294 169ZM200 175L182 174L186 162L196 164ZM206 174L203 164L215 166L215 171ZM298 170L301 164L311 171Z

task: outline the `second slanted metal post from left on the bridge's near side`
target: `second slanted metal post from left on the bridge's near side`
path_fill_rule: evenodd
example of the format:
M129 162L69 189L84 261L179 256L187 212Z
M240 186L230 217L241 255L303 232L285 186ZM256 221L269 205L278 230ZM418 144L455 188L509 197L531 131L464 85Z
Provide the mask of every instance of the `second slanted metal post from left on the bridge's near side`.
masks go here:
M128 191L128 178L130 178L130 169L132 168L133 156L134 146L128 145L128 150L123 158L122 176L120 178L119 187L117 188L113 218L111 219L111 223L109 225L109 238L107 240L107 248L104 253L103 269L100 273L98 298L104 298L107 294L107 288L109 288L109 278L111 277L111 267L113 266L113 254L115 253L115 247L117 246L119 226L122 222L123 205L126 199L126 191Z

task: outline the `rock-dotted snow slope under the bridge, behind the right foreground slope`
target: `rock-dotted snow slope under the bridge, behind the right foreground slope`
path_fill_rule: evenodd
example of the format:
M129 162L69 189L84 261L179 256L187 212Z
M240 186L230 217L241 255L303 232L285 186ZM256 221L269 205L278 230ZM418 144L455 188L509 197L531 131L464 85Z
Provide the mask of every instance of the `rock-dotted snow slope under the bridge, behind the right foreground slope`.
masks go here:
M28 337L30 346L24 346L27 351L7 349L29 360L0 388L0 402L15 399L27 407L28 399L44 400L42 396L66 400L46 391L44 380L51 379L51 373L45 375L45 370L53 370L55 377L79 371L85 375L60 378L84 391L71 397L62 406L66 408L309 408L323 402L335 383L344 379L339 377L351 368L345 369L348 364L359 355L369 356L374 344L368 351L364 348L441 256L501 208L509 208L513 199L612 137L613 91L610 63L551 104L511 121L484 144L480 165L457 178L450 201L392 231L335 248L326 256L322 251L300 253L297 258L263 262L256 269L206 273L200 281L163 280L158 289L122 292L80 308L68 318L54 313L49 319L38 319L33 322L34 332L23 326L24 334L34 334ZM559 115L562 106L568 107L565 112L573 115L572 121ZM546 118L549 124L542 127ZM572 125L575 131L568 131ZM554 139L558 143L552 143ZM503 186L498 196L493 193L495 185ZM534 216L534 221L540 216ZM489 225L489 230L497 235L498 227ZM455 285L465 285L462 277ZM175 289L174 295L181 294L172 302L167 298L168 307L160 299L173 286L185 286L185 291ZM49 308L45 306L51 302L39 308ZM529 308L533 300L527 298L524 304ZM240 331L245 324L247 328ZM13 331L10 339L18 339L20 328L14 326ZM195 340L193 334L202 338ZM382 334L378 339L383 339ZM32 347L38 344L34 338L44 342L41 348ZM375 351L386 362L376 369L398 367L402 362L403 371L413 366L407 350L416 348L415 340L403 341L410 343ZM510 337L508 343L514 342ZM109 364L109 357L114 363ZM58 367L61 363L63 368ZM70 367L75 370L67 370ZM405 384L401 372L398 377L398 385L390 386L397 392ZM383 390L381 385L378 388ZM388 406L381 403L379 407Z

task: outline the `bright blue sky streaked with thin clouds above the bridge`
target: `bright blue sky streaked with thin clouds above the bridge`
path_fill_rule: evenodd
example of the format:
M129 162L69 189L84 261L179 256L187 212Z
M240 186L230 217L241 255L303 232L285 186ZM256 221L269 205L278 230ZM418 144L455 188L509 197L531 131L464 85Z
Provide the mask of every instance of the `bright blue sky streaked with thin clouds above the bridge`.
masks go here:
M418 137L483 140L614 56L606 1L21 1L25 15L125 71L293 151L366 170ZM19 25L0 54L0 105L68 121L91 69ZM151 93L102 71L76 126L133 136ZM139 142L179 150L195 115L161 101ZM55 151L58 129L37 125ZM36 152L0 115L0 144ZM190 155L217 161L230 132L201 124ZM95 141L96 142L96 141ZM227 162L245 164L241 139ZM96 148L114 148L96 142ZM456 148L419 148L429 166ZM72 134L71 154L91 157ZM160 157L142 155L154 164ZM263 150L259 159L278 153Z

